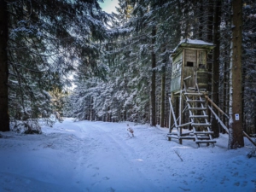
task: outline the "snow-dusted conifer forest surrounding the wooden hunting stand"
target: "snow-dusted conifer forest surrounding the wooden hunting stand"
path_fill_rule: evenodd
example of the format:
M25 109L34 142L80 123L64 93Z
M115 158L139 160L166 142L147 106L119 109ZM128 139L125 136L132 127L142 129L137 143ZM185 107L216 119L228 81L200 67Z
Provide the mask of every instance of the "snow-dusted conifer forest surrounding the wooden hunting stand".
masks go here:
M243 145L241 131L255 137L254 0L119 0L111 15L99 2L1 0L0 131L40 133L53 114L169 127L172 50L199 39L215 46L209 97L241 113L237 125L221 116L230 148Z

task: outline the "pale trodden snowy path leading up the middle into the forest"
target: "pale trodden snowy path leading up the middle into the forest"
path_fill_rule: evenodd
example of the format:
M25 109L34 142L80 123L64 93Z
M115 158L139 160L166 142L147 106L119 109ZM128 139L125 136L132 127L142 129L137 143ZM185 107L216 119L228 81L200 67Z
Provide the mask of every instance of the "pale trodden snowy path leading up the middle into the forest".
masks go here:
M127 139L124 129L113 130L103 122L74 124L77 126L73 131L78 131L76 135L84 139L76 160L76 169L84 172L75 175L74 182L86 186L87 191L155 191L154 184L140 172L135 150L124 142ZM85 148L90 148L90 154ZM131 180L132 185L128 182Z

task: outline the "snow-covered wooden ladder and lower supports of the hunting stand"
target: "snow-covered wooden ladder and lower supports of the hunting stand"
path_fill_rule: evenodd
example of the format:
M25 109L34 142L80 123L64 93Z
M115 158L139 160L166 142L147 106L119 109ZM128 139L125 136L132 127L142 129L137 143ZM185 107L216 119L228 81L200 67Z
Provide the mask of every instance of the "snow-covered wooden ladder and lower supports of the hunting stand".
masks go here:
M201 143L211 144L214 147L216 141L212 139L213 131L211 131L211 124L208 122L205 91L200 91L196 83L195 87L187 88L185 81L189 78L183 79L184 89L182 90L182 96L185 98L185 104L187 105L184 111L189 111L188 122L178 125L177 120L181 117L176 119L170 97L170 113L172 113L174 125L170 125L169 133L167 134L168 140L171 141L172 138L176 138L182 144L183 139L192 139L198 147L200 147ZM192 127L192 131L183 132L183 127L188 126Z

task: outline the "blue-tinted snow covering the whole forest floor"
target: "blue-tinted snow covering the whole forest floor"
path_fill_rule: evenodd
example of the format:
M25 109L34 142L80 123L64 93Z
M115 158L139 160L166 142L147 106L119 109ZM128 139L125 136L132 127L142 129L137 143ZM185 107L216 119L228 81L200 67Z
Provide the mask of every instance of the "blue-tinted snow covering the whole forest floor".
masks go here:
M42 131L0 132L0 191L256 191L247 139L236 150L227 135L198 148L167 141L166 128L73 119Z

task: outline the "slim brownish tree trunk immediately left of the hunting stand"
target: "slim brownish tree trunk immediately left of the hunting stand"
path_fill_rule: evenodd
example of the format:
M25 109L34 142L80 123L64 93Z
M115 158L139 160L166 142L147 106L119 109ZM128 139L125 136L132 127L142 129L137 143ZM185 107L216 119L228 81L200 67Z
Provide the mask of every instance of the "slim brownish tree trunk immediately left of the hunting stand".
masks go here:
M166 107L166 65L162 67L161 77L161 100L160 100L160 127L165 127Z

